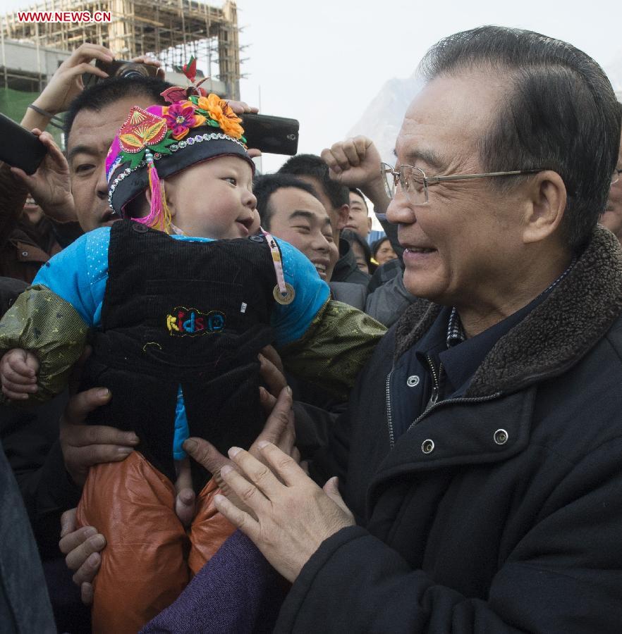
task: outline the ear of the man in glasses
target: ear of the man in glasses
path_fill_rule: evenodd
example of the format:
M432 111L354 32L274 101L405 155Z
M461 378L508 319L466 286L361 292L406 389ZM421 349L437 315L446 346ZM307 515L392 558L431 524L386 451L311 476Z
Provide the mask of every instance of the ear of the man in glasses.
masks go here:
M523 242L546 240L559 228L566 211L566 185L561 176L544 170L530 181L529 199L525 208Z

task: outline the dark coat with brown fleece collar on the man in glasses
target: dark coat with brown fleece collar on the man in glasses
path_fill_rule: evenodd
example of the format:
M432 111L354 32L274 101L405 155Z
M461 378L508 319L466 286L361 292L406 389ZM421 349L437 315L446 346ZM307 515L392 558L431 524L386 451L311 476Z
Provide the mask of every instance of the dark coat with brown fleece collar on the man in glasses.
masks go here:
M313 465L358 526L313 554L276 631L618 633L621 310L622 251L598 228L464 396L393 443L387 402L409 388L387 377L440 311L415 302Z

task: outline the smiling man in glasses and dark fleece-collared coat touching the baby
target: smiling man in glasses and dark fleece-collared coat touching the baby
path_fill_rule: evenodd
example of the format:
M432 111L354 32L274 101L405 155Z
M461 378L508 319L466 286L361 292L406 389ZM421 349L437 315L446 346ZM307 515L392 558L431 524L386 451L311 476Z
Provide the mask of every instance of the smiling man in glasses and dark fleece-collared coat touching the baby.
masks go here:
M384 173L425 299L312 461L339 490L233 447L217 507L293 583L279 633L617 633L622 250L597 226L614 91L570 44L504 27L420 68Z

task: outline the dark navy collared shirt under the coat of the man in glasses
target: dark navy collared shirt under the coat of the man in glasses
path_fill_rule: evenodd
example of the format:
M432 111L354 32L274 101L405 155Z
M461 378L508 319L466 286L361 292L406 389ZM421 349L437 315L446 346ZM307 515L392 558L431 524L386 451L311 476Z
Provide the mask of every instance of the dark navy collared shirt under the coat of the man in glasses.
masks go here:
M458 311L444 308L425 335L398 360L389 375L391 424L397 439L434 402L463 396L494 344L544 302L570 266L527 306L467 339Z

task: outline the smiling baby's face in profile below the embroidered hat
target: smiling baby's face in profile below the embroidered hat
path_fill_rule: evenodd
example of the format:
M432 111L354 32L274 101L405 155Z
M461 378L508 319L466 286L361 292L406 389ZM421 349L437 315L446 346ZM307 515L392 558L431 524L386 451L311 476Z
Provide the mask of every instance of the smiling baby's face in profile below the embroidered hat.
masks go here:
M221 156L166 179L173 224L185 235L214 240L247 237L260 226L252 170L244 159Z

